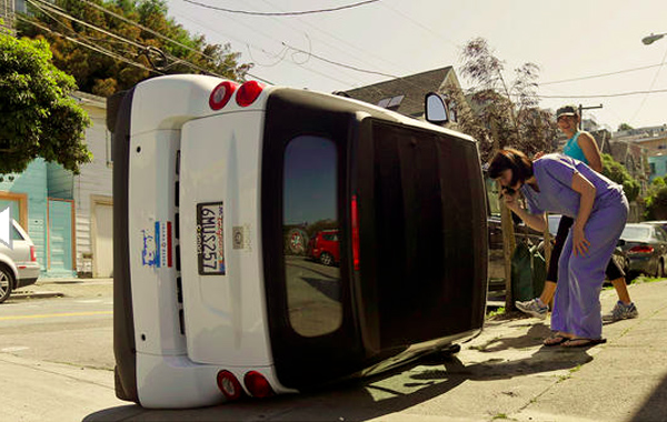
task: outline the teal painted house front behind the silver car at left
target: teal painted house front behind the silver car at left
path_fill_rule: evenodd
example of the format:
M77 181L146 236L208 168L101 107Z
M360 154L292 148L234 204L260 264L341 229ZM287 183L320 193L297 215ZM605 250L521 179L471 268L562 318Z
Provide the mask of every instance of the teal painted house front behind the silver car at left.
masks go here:
M11 207L13 219L28 231L42 277L76 277L72 191L73 175L42 159L20 174L0 175L0 209Z

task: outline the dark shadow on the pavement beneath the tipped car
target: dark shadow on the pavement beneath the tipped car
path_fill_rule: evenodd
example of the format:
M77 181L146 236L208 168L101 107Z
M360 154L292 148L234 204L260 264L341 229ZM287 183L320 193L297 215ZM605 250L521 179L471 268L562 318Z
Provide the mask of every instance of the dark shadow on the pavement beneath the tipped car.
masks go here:
M340 382L300 394L242 399L203 409L148 410L138 405L92 413L86 422L108 421L367 421L447 394L461 383L573 369L593 360L580 350L540 348L518 360L489 359L465 365L457 356L431 354L380 375Z

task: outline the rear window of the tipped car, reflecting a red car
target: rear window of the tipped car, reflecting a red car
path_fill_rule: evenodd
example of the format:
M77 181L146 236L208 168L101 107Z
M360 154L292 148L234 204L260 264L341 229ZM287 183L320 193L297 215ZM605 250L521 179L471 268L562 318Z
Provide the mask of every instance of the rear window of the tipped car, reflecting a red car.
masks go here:
M319 137L298 137L285 150L282 229L289 322L302 336L342 322L338 235L338 152ZM326 232L323 232L326 230ZM316 242L319 239L328 242Z

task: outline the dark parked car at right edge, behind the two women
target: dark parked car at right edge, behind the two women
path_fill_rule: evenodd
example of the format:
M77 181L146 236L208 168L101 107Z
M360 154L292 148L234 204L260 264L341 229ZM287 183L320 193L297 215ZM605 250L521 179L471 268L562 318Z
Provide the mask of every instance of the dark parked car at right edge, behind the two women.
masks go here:
M630 261L630 272L665 277L667 262L667 232L657 224L626 224L620 239L621 249Z

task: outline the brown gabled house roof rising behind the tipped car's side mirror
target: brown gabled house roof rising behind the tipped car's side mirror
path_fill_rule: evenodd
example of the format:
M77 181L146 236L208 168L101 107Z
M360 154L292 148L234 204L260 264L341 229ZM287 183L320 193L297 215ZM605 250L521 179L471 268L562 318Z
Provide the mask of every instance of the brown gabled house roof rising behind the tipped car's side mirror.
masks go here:
M422 119L426 94L442 92L447 83L460 88L451 66L356 88L345 91L345 94L405 115Z

